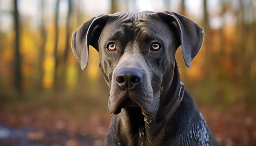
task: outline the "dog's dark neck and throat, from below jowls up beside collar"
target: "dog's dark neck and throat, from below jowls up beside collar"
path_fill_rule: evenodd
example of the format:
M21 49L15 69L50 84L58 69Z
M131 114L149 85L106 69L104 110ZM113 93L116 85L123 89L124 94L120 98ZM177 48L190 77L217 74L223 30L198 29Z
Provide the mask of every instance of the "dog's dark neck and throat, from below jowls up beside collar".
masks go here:
M160 100L156 115L143 115L140 108L122 109L119 116L118 132L121 143L127 145L161 145L165 136L166 115L177 99L179 72L175 63L172 84ZM168 120L168 119L167 119Z

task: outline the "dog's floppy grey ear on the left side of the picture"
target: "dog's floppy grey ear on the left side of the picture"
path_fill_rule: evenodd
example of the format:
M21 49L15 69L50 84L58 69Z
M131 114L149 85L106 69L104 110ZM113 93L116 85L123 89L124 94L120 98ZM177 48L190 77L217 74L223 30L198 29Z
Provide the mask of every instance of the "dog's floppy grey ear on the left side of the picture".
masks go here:
M108 18L109 15L93 17L73 32L71 48L82 70L85 70L88 64L89 45L99 51L98 39Z

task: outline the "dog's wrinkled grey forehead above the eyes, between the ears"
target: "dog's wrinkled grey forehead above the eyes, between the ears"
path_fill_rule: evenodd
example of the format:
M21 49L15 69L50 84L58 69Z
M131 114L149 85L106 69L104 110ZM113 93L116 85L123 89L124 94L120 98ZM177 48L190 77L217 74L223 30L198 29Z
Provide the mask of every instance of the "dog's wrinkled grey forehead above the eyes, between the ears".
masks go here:
M118 12L110 16L103 29L104 38L116 32L134 36L161 35L169 37L168 25L155 12Z

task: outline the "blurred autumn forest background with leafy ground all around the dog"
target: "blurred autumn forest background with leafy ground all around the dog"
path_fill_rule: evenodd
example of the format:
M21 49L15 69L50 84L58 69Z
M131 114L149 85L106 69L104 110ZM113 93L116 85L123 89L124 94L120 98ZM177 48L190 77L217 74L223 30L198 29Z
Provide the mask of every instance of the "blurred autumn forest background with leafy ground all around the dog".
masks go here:
M72 32L100 14L143 10L204 27L191 68L176 53L182 81L221 145L256 145L255 0L0 0L0 145L101 145L109 88L91 46L81 70Z

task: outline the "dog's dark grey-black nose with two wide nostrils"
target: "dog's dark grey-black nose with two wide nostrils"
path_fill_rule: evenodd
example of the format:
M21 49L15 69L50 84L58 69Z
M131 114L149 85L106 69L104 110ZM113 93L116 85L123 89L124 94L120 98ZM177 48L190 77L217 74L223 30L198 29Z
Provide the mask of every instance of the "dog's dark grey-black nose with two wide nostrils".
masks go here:
M121 89L131 88L142 82L142 71L137 68L120 68L115 75L116 83Z

